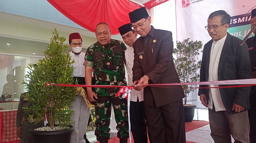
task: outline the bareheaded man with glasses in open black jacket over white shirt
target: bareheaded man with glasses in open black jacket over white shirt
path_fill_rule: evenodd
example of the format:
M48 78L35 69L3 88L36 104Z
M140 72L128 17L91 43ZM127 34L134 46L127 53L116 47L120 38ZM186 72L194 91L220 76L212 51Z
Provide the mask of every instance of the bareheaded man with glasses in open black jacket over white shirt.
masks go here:
M230 15L224 10L208 17L206 29L211 40L204 45L200 82L249 79L251 62L247 44L239 47L241 39L231 36L227 29ZM229 85L200 85L200 87ZM211 137L216 143L249 143L250 86L238 88L199 89L202 104L209 109Z

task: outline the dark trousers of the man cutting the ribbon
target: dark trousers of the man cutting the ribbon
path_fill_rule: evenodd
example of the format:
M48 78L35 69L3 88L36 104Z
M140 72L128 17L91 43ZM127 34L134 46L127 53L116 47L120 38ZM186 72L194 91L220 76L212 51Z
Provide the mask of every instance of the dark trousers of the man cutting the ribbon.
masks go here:
M182 99L156 107L145 106L150 143L186 143Z

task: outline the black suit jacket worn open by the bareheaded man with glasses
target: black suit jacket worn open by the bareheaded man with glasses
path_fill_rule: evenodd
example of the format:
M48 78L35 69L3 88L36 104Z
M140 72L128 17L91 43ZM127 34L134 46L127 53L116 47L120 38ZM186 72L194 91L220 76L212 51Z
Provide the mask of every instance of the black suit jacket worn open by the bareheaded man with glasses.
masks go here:
M235 36L231 36L229 33L227 34L218 65L218 81L251 78L251 62L247 44L244 43L242 47L239 47L238 45L242 40ZM203 48L200 82L208 81L212 43L213 39L206 43ZM208 87L208 85L200 85L199 87ZM235 111L232 111L233 103L245 107L244 111L248 110L250 108L250 89L250 86L239 88L220 88L221 98L226 110L229 113L236 113ZM209 100L209 89L199 89L198 95L201 94L206 94L206 97Z

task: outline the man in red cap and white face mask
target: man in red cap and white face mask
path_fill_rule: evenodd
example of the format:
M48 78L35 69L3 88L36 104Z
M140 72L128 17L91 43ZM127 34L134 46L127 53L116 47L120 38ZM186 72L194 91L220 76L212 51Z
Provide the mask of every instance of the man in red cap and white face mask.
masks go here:
M82 50L82 38L79 33L71 33L69 35L69 46L71 48L71 60L75 63L73 78L78 80L78 84L85 85L85 66L83 62L85 60L85 53ZM84 88L86 90L86 88ZM74 101L71 102L69 110L75 111L71 116L71 120L74 121L72 126L75 126L75 130L71 134L70 143L86 143L83 135L85 135L87 129L87 123L90 116L90 109L87 106L85 99L80 95L76 95Z

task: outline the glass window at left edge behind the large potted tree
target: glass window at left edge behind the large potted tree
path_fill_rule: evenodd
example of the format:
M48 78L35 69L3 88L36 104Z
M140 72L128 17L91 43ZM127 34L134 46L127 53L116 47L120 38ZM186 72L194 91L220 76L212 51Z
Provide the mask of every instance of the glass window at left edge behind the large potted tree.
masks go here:
M29 70L27 65L29 63L37 63L43 58L0 54L0 59L0 92L2 93L0 107L2 107L1 104L3 102L20 100L20 95L26 92L22 82L23 80L28 82L24 77Z

